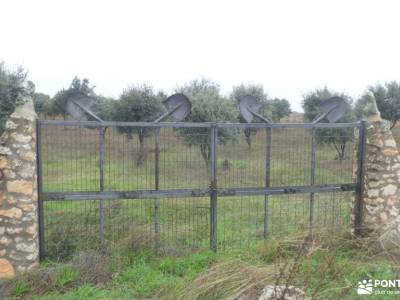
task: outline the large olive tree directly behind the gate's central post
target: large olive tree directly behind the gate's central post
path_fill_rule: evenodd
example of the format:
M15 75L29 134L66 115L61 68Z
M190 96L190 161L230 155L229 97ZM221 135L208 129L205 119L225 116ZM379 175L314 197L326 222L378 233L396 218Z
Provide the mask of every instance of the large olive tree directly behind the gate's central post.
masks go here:
M238 111L232 101L223 97L220 87L213 81L201 79L193 80L179 88L179 93L185 94L192 102L192 113L186 118L188 122L234 122ZM208 128L180 128L178 135L191 146L200 147L206 165L209 165L211 145ZM226 144L235 136L235 131L220 129L218 142Z

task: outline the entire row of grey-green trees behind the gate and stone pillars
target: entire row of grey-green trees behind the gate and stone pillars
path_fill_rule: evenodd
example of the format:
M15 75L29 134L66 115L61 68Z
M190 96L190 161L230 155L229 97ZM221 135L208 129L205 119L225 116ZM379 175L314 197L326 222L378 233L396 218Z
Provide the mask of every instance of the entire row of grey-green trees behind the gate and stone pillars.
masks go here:
M16 71L7 70L4 63L0 63L0 133L4 130L5 120L14 111L15 106L22 101L26 72L23 69ZM104 120L125 122L149 122L155 120L164 111L162 101L167 95L148 85L133 85L125 89L118 99L104 97L95 92L95 86L89 79L73 78L68 88L61 89L53 97L44 93L34 94L36 112L41 118L67 118L65 102L68 96L80 91L93 99L92 111ZM376 84L368 87L368 92L374 94L382 117L391 122L394 127L400 119L400 83L393 81L386 84ZM234 86L229 95L221 92L220 86L207 79L193 80L180 86L174 92L184 93L192 102L192 112L187 118L189 122L245 122L237 108L237 101L241 96L252 95L259 104L259 113L274 122L290 115L290 103L286 99L272 98L262 85L241 84ZM351 105L351 109L342 117L340 122L353 122L359 120L367 94L359 99L339 93L324 87L303 95L302 106L304 121L310 122L321 112L319 105L332 96L341 96ZM197 128L188 134L189 129L177 130L177 134L191 146L197 146L206 163L210 159L210 145L205 129ZM144 140L154 131L145 128L121 127L119 131L132 139L138 137L140 154L138 160L143 159ZM195 132L196 131L196 132ZM234 140L237 131L220 130L218 141L222 144ZM256 130L243 130L248 147L251 148L252 136ZM318 130L317 141L332 146L337 152L337 159L342 160L346 147L352 140L352 134L347 129Z

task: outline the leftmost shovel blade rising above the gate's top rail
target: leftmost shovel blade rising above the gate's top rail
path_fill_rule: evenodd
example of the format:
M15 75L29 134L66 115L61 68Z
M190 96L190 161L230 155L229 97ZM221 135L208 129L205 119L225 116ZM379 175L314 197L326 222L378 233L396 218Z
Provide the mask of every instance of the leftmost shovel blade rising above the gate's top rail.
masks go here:
M92 105L92 98L85 95L82 92L71 93L65 103L65 110L70 114L75 120L86 121L87 116L91 116L99 122L103 122L98 116L96 116L90 107Z

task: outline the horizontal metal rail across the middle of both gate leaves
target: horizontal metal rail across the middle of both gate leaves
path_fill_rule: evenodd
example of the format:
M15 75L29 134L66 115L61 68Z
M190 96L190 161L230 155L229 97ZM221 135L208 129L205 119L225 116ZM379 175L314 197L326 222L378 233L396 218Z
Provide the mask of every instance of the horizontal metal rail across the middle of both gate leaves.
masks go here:
M282 195L300 193L327 193L354 191L355 184L325 184L315 186L284 186L268 188L218 188L217 195L248 196L248 195ZM134 190L134 191L104 191L104 192L47 192L41 194L44 201L54 200L98 200L98 199L143 199L143 198L184 198L206 197L210 189L173 189L173 190Z

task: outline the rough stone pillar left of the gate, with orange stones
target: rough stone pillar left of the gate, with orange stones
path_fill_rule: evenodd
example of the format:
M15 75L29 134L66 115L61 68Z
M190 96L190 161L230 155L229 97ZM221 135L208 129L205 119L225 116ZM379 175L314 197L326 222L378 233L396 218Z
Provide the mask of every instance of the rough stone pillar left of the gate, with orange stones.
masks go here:
M36 114L31 96L0 137L0 278L38 264Z

